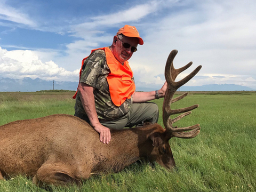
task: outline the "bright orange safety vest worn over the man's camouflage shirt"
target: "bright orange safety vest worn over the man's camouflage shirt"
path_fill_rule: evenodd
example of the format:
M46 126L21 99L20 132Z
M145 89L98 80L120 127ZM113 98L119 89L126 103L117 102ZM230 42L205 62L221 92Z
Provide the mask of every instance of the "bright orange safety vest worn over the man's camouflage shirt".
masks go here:
M119 61L117 61L115 56L109 49L109 47L94 49L92 50L92 52L95 50L105 51L107 65L110 69L110 73L107 76L110 98L114 103L114 105L119 107L124 103L126 99L130 99L131 95L135 91L135 84L134 84L134 81L132 80L132 77L133 77L132 69L128 64L128 61L125 61L124 65L122 65ZM82 61L82 67L79 73L79 82L82 74L84 60L86 60L87 58L88 57L84 58ZM76 95L77 95L77 91L73 96L73 99L76 98Z

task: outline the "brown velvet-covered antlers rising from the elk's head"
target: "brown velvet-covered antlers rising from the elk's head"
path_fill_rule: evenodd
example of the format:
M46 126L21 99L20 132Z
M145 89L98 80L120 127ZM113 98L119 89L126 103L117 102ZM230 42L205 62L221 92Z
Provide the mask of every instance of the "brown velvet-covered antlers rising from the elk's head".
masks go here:
M163 103L163 122L164 122L166 131L170 132L172 137L189 139L189 138L194 138L194 137L196 137L196 135L198 135L198 133L200 132L199 130L201 129L201 127L199 127L199 124L196 124L193 126L188 126L188 127L180 127L180 128L173 127L172 124L179 121L181 118L191 114L191 110L199 107L199 105L193 105L190 107L174 109L174 110L172 110L170 108L170 105L171 105L171 103L179 101L188 95L188 93L184 93L184 94L180 95L179 97L172 99L174 93L179 89L179 87L181 87L182 85L187 83L191 78L193 78L198 73L198 71L202 68L202 66L198 66L188 76L186 76L185 78L181 79L178 82L175 82L175 78L182 71L189 68L193 63L193 62L189 62L186 66L181 67L179 69L175 69L173 67L173 59L177 53L178 53L177 50L171 51L171 53L169 54L169 57L166 61L165 79L167 82L167 90L165 93L164 103ZM178 117L173 118L173 119L170 118L171 115L180 114L180 113L183 113L183 114L181 114ZM189 130L191 130L191 131L189 131ZM183 131L189 131L189 132L183 132Z

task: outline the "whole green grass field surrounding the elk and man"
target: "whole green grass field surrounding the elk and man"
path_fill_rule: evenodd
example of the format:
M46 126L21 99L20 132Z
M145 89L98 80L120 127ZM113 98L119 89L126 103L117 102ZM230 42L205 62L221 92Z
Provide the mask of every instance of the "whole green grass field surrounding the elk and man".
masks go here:
M74 114L74 92L0 92L0 125L51 114ZM163 99L159 106L162 122ZM172 138L177 169L167 171L147 162L122 172L94 175L82 186L50 187L52 191L256 191L256 92L191 92L172 108L199 108L177 122L201 124L194 139ZM45 191L18 176L0 181L0 191Z

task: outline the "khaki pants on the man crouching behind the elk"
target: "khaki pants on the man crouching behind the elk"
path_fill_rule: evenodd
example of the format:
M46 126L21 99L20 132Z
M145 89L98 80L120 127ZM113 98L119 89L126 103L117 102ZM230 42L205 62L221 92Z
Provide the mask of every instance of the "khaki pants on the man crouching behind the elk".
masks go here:
M158 106L156 103L132 103L131 110L123 117L114 121L100 121L111 129L123 129L124 127L142 126L145 122L157 123Z

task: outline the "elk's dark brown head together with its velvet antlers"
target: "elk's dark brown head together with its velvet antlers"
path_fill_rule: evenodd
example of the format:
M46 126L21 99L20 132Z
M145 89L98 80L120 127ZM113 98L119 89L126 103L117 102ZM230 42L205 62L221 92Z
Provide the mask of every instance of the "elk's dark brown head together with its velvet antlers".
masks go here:
M200 132L201 127L199 127L199 124L193 125L193 126L188 126L188 127L177 127L173 126L173 123L179 121L181 118L191 114L191 110L199 107L199 105L193 105L190 107L186 108L181 108L181 109L171 109L171 103L174 103L176 101L179 101L183 98L185 98L188 93L184 93L180 95L179 97L173 99L174 93L187 83L191 78L193 78L198 71L202 68L202 66L198 66L193 72L191 72L188 76L185 78L181 79L178 82L175 82L175 78L184 70L189 68L193 62L189 62L186 66L181 67L179 69L175 69L173 67L173 60L175 55L178 53L177 50L171 51L169 54L169 57L166 61L166 66L165 66L165 79L167 82L167 90L165 93L164 97L164 102L163 102L163 123L165 126L165 130L162 129L160 133L153 133L150 135L150 139L153 141L153 158L154 160L159 163L160 165L170 169L171 167L175 166L174 158L172 155L172 151L169 145L169 140L172 137L177 137L177 138L185 138L185 139L190 139L196 137L198 133ZM183 113L183 114L181 114ZM171 115L174 114L181 114L178 117L171 118ZM158 129L159 130L159 129ZM187 131L187 132L185 132ZM155 155L154 155L155 154ZM157 154L157 155L156 155Z

